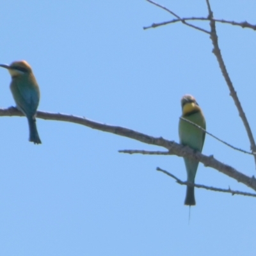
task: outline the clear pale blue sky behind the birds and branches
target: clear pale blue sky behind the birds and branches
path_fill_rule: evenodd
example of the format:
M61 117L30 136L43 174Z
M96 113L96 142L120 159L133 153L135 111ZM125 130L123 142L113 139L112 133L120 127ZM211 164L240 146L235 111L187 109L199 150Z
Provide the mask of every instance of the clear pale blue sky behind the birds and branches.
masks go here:
M159 2L182 17L205 17L205 1ZM212 1L219 19L256 23L255 1ZM4 1L1 63L27 60L40 84L38 109L85 116L179 141L180 98L191 93L207 130L250 150L209 35L173 24L147 1ZM208 29L207 22L196 22ZM255 134L255 31L218 24L220 47ZM14 105L0 70L0 106ZM42 145L28 142L25 118L2 117L1 255L254 255L255 199L186 188L177 156L119 154L161 150L65 122L37 120ZM206 136L203 150L246 175L253 157ZM200 164L198 184L252 190Z

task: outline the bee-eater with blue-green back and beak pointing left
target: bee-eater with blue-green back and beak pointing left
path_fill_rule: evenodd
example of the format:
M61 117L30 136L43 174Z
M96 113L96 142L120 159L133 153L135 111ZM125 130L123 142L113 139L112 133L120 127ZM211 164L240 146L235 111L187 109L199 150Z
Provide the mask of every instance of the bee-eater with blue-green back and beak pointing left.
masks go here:
M36 109L39 104L40 90L33 75L32 68L27 61L14 61L10 65L0 64L0 67L7 68L12 76L10 89L17 108L28 118L29 141L40 144L36 129Z

